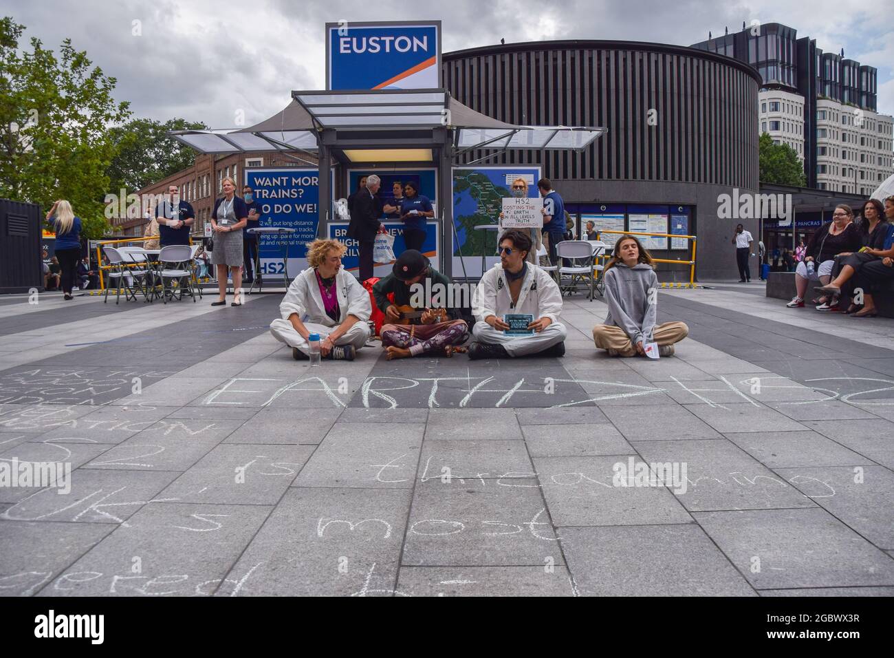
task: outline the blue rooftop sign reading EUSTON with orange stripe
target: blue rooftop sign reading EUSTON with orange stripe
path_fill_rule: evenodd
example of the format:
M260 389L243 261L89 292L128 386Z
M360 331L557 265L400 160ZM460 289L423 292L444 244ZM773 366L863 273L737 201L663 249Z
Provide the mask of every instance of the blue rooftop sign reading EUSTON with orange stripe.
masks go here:
M441 87L441 21L326 23L327 90Z

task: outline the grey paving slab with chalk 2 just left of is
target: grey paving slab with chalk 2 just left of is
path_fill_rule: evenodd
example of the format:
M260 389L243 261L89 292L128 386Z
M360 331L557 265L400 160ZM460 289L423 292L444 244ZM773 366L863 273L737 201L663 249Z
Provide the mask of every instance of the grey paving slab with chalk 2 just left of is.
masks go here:
M85 467L185 471L240 424L240 421L159 421Z

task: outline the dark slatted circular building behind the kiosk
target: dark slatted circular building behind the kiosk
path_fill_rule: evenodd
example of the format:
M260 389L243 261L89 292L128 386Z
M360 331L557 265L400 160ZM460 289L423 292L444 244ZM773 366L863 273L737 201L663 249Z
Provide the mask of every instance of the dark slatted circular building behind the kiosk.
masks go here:
M760 84L730 57L636 41L537 41L443 56L444 87L478 112L510 124L608 129L580 153L477 151L467 162L539 164L569 213L597 226L658 232L663 216L667 232L697 235L702 279L738 276L730 239L739 221L757 235L755 219L718 218L718 196L758 191ZM683 239L651 248L688 259ZM683 280L683 269L660 272Z

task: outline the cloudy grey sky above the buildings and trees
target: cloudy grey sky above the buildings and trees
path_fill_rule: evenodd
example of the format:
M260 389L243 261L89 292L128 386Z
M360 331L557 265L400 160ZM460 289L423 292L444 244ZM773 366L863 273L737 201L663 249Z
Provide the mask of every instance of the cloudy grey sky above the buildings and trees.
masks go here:
M740 30L742 21L780 22L826 52L843 47L845 56L878 68L879 109L894 114L894 21L885 9L883 0L7 0L0 13L46 47L72 38L118 79L116 97L130 100L135 116L230 128L239 111L255 124L282 109L291 90L324 89L324 25L340 20L440 19L445 53L500 38L688 46L708 30Z

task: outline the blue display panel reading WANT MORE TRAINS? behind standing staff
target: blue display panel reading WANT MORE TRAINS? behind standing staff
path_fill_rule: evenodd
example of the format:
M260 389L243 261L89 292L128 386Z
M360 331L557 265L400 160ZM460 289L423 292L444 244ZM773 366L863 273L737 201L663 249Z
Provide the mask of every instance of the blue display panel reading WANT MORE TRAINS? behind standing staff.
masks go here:
M317 169L249 168L245 184L255 191L261 226L293 228L291 235L260 235L258 258L261 274L283 273L283 244L288 246L289 272L295 276L306 267L307 244L316 238L319 223L319 172ZM332 189L332 188L330 188Z

